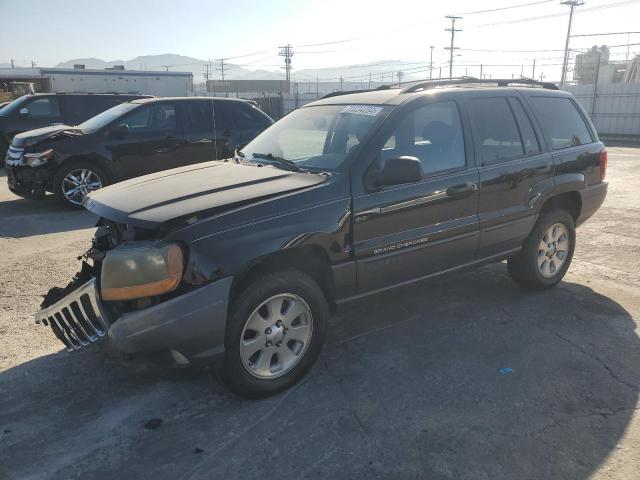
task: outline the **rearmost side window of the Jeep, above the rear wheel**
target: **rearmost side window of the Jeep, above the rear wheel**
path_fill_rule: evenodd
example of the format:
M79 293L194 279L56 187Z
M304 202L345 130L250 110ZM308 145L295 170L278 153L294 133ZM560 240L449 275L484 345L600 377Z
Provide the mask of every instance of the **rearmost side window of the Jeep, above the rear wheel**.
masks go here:
M582 115L568 98L531 97L531 103L551 139L553 150L584 145L594 141Z

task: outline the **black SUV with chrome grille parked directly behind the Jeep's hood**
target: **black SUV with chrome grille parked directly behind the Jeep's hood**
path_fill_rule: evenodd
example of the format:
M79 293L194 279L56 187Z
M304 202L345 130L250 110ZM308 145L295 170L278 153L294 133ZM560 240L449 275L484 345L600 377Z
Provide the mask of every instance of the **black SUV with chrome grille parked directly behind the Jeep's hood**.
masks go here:
M16 135L6 160L9 189L34 199L50 191L79 207L88 192L122 179L230 157L272 123L243 100L133 100L77 127Z

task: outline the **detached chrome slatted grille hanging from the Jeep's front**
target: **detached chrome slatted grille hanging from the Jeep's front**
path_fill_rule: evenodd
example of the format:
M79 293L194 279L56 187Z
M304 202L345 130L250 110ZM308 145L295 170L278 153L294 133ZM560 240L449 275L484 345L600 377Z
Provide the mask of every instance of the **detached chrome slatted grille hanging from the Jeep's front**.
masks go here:
M99 342L109 329L92 279L54 305L36 313L36 323L50 326L68 351Z

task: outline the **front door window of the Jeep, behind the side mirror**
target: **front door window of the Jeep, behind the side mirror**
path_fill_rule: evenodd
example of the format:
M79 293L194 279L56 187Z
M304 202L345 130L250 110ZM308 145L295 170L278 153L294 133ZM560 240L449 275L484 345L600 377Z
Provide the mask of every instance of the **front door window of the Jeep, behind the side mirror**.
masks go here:
M464 137L455 102L432 103L408 113L380 153L383 162L416 157L425 176L464 167Z

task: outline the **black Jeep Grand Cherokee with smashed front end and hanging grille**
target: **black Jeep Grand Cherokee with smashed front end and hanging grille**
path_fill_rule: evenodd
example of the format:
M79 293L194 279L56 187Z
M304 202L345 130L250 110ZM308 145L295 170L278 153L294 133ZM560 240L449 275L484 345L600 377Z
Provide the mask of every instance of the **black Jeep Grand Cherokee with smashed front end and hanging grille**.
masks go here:
M88 260L38 322L69 350L223 353L231 387L258 397L300 380L350 300L503 259L552 287L604 201L606 150L570 94L492 82L333 95L235 161L91 193Z

